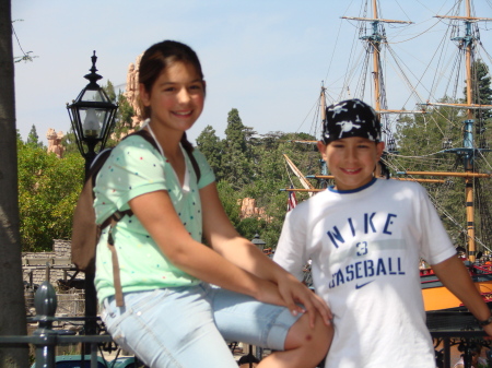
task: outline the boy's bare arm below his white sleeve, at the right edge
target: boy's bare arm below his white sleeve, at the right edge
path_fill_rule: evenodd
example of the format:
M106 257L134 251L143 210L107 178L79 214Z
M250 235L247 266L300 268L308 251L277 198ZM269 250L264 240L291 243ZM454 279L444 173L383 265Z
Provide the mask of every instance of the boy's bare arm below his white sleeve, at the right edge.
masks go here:
M485 321L491 317L489 307L483 301L467 268L458 257L453 256L441 263L432 265L432 269L444 286L465 304L475 318L479 321ZM483 330L492 336L492 323L483 327Z

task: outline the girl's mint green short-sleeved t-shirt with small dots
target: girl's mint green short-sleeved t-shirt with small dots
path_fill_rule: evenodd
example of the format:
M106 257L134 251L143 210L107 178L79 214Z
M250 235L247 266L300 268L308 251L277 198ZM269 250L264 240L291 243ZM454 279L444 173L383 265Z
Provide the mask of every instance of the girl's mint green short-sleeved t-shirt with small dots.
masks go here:
M181 149L183 150L183 149ZM113 151L96 178L94 209L102 223L116 210L129 210L128 201L153 191L167 190L176 213L191 237L201 242L202 218L199 189L215 180L204 156L194 151L200 168L200 182L186 159L185 182L178 178L165 157L143 138L134 135L121 141ZM118 256L122 292L150 290L162 287L195 285L199 280L174 266L138 221L125 216L113 229ZM112 253L107 247L107 228L96 249L95 286L97 298L115 295Z

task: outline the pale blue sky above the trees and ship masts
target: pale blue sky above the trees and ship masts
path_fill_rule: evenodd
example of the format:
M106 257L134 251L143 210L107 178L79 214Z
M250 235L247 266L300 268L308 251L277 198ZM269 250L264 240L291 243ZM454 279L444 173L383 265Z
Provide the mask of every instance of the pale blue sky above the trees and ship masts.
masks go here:
M418 79L433 79L425 68L441 40L453 0L380 0L379 17L414 22L387 26L391 46ZM477 15L491 16L490 0L475 0ZM15 64L16 127L26 139L36 126L46 144L49 128L67 132L66 104L85 86L96 50L101 84L125 87L138 55L163 39L191 46L208 83L206 108L191 129L195 139L210 124L224 136L227 112L258 133L313 133L313 109L324 81L329 98L342 93L343 75L356 40L354 22L361 0L12 0L12 20L24 51L34 62ZM481 39L492 54L492 22L481 23ZM424 38L421 34L429 29ZM489 31L490 29L490 31ZM408 40L408 41L406 41ZM449 41L449 49L454 45ZM14 56L22 51L13 38ZM353 54L356 56L358 54ZM388 70L388 73L390 71ZM413 108L401 82L387 76L390 108ZM352 87L351 87L352 88ZM353 87L355 90L355 87ZM420 92L424 98L425 90ZM370 98L370 97L368 97Z

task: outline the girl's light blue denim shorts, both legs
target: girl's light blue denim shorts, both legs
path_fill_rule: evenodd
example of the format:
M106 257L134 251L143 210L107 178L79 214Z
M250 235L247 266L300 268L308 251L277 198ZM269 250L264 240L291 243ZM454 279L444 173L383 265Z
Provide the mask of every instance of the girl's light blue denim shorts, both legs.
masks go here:
M225 341L283 351L300 317L206 283L124 298L125 307L105 299L102 319L116 343L152 368L237 368Z

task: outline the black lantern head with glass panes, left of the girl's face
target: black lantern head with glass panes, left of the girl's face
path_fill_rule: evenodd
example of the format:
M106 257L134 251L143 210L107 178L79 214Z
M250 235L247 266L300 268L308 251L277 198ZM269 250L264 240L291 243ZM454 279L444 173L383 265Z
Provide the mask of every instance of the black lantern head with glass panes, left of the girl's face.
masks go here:
M118 109L118 105L113 104L106 92L97 84L103 76L96 73L95 51L91 59L91 73L84 75L89 80L89 84L72 100L71 105L67 103L77 146L85 158L85 175L97 154L96 145L101 143L98 152L104 150L115 126L115 116Z

